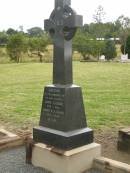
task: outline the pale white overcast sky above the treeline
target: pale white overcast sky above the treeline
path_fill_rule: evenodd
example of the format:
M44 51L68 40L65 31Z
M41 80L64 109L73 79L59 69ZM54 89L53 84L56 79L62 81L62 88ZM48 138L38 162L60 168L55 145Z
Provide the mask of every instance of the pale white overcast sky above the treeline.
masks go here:
M130 0L71 0L71 6L84 23L93 21L95 10L101 5L106 13L105 21L115 21L120 15L130 18ZM0 31L8 28L24 30L38 26L44 28L54 8L54 0L0 0Z

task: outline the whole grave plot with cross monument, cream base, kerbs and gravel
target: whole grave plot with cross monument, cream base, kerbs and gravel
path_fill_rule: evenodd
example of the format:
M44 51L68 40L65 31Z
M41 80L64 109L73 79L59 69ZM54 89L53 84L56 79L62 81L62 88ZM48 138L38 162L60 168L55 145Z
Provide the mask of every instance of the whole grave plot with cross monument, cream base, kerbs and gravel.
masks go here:
M0 153L2 172L130 172L130 165L101 157L101 145L94 143L93 130L87 125L82 89L73 84L72 38L82 24L71 0L55 0L50 18L45 20L54 44L53 83L44 89L39 127L33 128L26 152L15 148ZM0 137L1 149L22 145L25 140L4 130ZM25 163L25 155L26 162L35 167Z

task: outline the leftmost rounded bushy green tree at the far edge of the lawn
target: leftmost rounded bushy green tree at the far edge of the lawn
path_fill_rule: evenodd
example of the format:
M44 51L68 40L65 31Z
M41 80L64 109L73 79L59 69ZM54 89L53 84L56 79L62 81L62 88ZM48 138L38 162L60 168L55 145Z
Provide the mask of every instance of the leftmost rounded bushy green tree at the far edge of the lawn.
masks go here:
M20 62L22 54L27 51L27 40L22 33L13 34L7 43L7 52L11 60Z

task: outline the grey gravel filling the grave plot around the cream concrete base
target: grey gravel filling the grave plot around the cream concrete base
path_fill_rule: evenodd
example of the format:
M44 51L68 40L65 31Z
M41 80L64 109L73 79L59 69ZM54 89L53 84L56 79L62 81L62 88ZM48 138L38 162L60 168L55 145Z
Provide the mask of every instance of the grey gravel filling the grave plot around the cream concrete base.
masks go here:
M25 163L25 148L19 147L0 152L0 173L51 173ZM95 170L86 173L102 173Z

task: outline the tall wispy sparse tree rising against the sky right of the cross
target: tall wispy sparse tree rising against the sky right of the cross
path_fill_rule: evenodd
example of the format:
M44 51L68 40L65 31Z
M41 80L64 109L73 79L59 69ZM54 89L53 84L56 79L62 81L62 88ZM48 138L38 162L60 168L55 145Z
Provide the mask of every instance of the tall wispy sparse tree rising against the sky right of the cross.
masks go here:
M93 15L93 19L95 23L103 23L105 18L105 12L101 5L98 6L97 10L95 11L95 14Z

